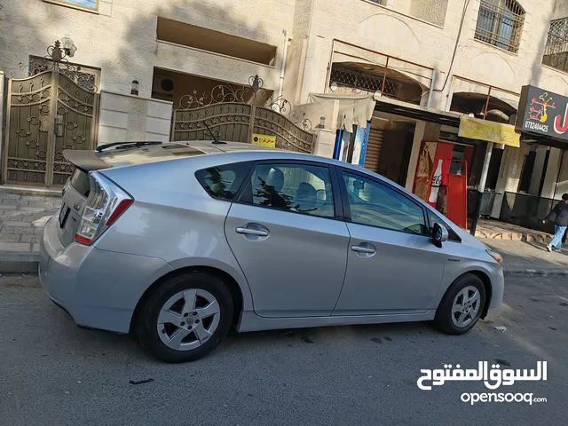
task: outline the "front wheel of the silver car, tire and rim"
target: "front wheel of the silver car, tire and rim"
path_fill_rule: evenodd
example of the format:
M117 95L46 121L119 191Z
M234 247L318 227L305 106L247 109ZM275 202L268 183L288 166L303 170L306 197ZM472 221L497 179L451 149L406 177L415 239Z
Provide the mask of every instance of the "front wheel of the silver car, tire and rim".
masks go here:
M475 309L476 303L461 305L466 294L468 294L469 300L473 299L475 290L477 290L478 296L477 309ZM454 303L456 312L453 312ZM459 311L460 309L461 312ZM436 311L434 327L446 333L446 335L463 335L477 324L477 320L481 317L484 309L485 286L483 281L477 277L477 275L466 273L455 280L446 291L446 295L442 298L438 310ZM461 319L462 313L465 316L463 317L462 325L460 325L459 319Z

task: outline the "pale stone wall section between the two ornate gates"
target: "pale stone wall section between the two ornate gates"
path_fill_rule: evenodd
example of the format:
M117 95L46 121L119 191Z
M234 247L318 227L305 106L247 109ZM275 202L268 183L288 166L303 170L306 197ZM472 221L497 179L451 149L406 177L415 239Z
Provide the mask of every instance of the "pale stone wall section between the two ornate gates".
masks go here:
M171 102L102 91L99 145L122 141L168 141L171 110Z

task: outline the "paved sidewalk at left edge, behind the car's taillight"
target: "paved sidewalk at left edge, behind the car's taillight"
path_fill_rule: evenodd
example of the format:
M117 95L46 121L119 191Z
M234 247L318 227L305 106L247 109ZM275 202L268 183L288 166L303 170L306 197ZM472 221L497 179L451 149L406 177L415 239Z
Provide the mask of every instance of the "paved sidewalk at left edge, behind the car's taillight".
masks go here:
M0 272L36 272L43 225L61 198L0 189Z

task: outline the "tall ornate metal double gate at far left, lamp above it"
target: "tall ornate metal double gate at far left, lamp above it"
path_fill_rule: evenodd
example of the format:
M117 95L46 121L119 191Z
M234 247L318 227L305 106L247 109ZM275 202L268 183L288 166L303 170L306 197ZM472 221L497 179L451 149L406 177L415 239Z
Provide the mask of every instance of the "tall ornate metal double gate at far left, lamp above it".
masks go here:
M96 86L68 64L59 42L48 52L50 70L8 80L3 183L63 185L73 166L62 151L95 146Z

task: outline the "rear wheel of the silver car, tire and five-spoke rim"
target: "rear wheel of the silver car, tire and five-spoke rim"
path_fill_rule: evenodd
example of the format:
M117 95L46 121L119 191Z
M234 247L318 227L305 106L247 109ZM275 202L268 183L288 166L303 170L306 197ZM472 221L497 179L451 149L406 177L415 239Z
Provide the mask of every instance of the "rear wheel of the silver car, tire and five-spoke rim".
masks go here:
M213 351L232 323L233 299L225 283L206 272L189 272L164 281L148 297L136 335L156 359L187 362Z

